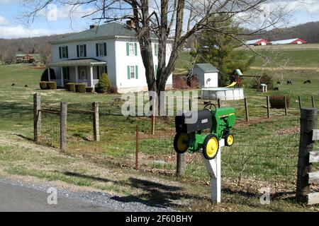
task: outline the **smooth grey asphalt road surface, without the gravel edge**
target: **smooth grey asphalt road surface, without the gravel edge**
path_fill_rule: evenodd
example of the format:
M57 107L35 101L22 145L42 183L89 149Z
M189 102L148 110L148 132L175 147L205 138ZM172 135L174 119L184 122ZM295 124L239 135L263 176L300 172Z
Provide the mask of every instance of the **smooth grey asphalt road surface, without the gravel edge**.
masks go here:
M47 203L45 191L37 191L26 186L0 182L0 211L117 211L111 207L99 206L80 199L57 196L57 205Z

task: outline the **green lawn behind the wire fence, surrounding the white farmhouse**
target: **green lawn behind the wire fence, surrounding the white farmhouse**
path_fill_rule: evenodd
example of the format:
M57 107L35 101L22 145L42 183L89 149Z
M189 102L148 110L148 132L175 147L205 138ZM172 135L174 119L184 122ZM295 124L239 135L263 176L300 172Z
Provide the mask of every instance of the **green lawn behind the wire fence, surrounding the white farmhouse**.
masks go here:
M303 52L308 52L308 54L303 54L303 57L300 57L298 52L301 52L301 50L289 50L289 52L280 54L284 59L291 56L291 59L293 59L291 65L295 67L303 62L303 58L308 59L303 62L304 64L301 66L303 68L300 70L256 69L262 65L261 59L257 58L253 65L254 69L245 72L245 75L259 75L267 72L274 76L275 83L276 81L282 83L278 85L279 91L269 90L268 93L259 93L250 89L250 84L254 78L245 78L245 96L248 100L252 124L245 124L244 122L245 107L242 100L221 102L222 106L235 107L237 120L239 120L235 127L236 145L233 148L223 150L223 187L225 189L256 191L261 185L258 183L259 179L262 182L269 182L267 184L269 186L275 186L276 191L283 191L282 189L293 191L298 153L299 109L296 101L298 96L301 96L302 105L310 107L310 96L313 95L315 104L319 105L319 72L315 69L305 69L315 66L319 57L316 57L313 49L303 50ZM245 55L249 54L251 53L245 53ZM310 57L307 58L307 56ZM189 52L182 52L176 68L183 71L187 69L189 62ZM29 140L33 139L33 93L35 92L40 93L43 106L47 107L59 107L59 102L68 102L69 108L90 109L92 102L99 101L101 102L101 142L94 143L91 141L93 133L90 115L69 112L67 133L69 148L67 155L103 159L107 162L115 162L117 165L133 167L135 126L138 124L140 129L140 168L152 173L174 174L176 155L172 150L172 139L174 138L173 117L158 121L156 135L150 136L149 118L131 117L128 119L108 114L110 112L121 112L121 105L112 105L113 98L119 97L119 95L93 95L70 93L65 90L40 90L38 83L43 70L32 69L31 67L28 64L0 66L1 132L17 134ZM307 79L310 79L312 83L304 85L303 81ZM284 83L286 80L291 80L293 85L286 85ZM12 87L12 83L16 83L16 87ZM28 88L25 88L24 85L28 85ZM266 96L274 94L291 96L288 117L284 117L284 110L282 109L271 109L273 119L265 119L267 116ZM198 108L201 109L203 100L198 100L198 104ZM59 120L55 115L43 114L43 143L46 145L58 147ZM278 133L278 131L282 132ZM21 159L15 159L15 155L11 155L8 149L2 154L0 150L0 160L1 156L5 160L8 157L12 163L12 165L7 165L7 172L9 173L30 174L33 177L40 178L50 177L52 180L62 180L64 182L72 180L69 177L63 177L61 174L44 174L34 171L32 170L32 164L25 166L26 169L18 170ZM26 156L23 155L23 157ZM36 159L36 155L33 158ZM26 161L28 161L28 158L26 158ZM180 181L186 184L205 184L208 181L208 175L201 161L201 155L187 154L186 177L180 179ZM173 179L171 176L168 178ZM92 182L76 180L75 183L90 186ZM249 184L250 186L248 186ZM195 189L194 192L200 191L200 189L198 191ZM226 196L230 197L231 195L226 194ZM235 197L235 195L232 197ZM279 206L280 203L281 201L279 201ZM194 205L194 208L191 209L198 210L196 203ZM289 206L289 201L288 204L284 203L284 205ZM199 208L199 210L202 209ZM291 206L286 210L291 210Z

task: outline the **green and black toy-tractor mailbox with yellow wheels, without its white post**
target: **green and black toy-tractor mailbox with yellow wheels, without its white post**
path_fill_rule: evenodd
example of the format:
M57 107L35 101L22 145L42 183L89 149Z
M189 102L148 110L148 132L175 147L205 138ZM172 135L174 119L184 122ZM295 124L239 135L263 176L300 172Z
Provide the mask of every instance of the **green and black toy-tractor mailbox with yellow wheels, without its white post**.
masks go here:
M215 109L211 109L211 107ZM197 120L194 123L194 116ZM220 107L209 103L201 111L187 112L175 117L176 132L174 138L174 149L177 153L195 153L203 150L203 156L212 160L216 157L219 148L219 141L225 138L225 145L231 146L234 143L234 136L231 133L235 125L235 108ZM210 129L209 133L203 133Z

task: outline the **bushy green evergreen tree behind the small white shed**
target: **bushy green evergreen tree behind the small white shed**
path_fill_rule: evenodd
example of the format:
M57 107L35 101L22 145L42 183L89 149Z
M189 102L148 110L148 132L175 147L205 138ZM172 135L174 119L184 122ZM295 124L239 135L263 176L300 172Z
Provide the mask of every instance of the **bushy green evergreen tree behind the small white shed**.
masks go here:
M224 17L223 20L220 17ZM244 59L244 52L237 50L237 47L242 45L239 41L235 40L230 35L225 33L233 32L234 34L240 32L237 23L233 22L227 15L211 17L211 27L217 30L202 30L198 37L196 51L191 52L191 56L196 59L198 63L211 63L219 71L219 85L229 85L231 74L235 69L246 71L254 57ZM223 22L214 22L223 21ZM222 32L220 32L222 31Z

